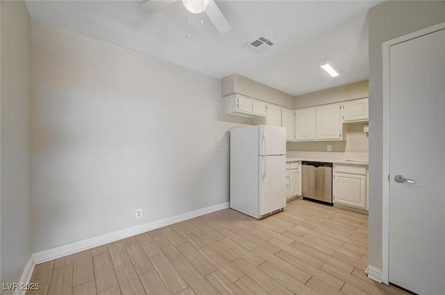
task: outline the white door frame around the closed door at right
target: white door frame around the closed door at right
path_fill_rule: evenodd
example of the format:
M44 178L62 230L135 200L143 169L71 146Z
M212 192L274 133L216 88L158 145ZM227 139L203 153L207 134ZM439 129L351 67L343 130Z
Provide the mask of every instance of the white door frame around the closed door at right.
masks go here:
M382 43L383 163L382 163L382 283L389 285L389 50L392 45L445 29L445 22Z

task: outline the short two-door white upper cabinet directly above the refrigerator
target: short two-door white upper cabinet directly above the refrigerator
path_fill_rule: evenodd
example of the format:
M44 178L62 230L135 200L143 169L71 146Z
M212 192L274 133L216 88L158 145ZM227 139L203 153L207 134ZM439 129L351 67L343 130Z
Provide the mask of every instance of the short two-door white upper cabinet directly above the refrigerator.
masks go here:
M248 118L266 117L266 103L241 94L233 94L225 98L225 112Z

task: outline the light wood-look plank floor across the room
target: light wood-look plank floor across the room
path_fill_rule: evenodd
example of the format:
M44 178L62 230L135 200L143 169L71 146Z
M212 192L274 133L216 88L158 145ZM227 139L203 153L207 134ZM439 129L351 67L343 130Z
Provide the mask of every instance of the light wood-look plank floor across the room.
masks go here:
M256 220L231 209L42 264L35 295L408 294L364 274L368 217L296 200Z

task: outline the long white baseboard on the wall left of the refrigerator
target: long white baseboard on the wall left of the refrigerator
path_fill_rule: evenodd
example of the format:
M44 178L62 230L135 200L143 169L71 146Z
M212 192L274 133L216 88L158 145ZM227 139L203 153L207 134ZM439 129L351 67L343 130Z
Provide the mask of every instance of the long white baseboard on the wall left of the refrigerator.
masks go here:
M186 212L173 217L168 217L156 221L149 222L148 224L141 224L140 226L133 226L132 228L125 228L124 230L118 230L113 233L107 233L106 235L99 235L98 237L92 237L90 239L84 239L83 241L67 244L64 246L51 248L49 250L41 251L33 254L33 261L35 264L54 260L66 255L81 252L97 246L102 246L111 242L131 237L133 235L139 235L149 230L156 228L162 228L163 226L169 226L170 224L176 224L177 222L198 217L211 212L216 212L229 208L229 202L212 205L206 208L198 209L191 212Z

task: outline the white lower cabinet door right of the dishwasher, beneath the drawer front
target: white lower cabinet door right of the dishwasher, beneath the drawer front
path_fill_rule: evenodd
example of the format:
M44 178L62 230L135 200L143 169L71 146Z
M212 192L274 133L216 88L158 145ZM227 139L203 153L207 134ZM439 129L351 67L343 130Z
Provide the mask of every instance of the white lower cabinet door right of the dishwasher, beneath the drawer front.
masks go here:
M334 203L366 209L366 175L336 173Z

